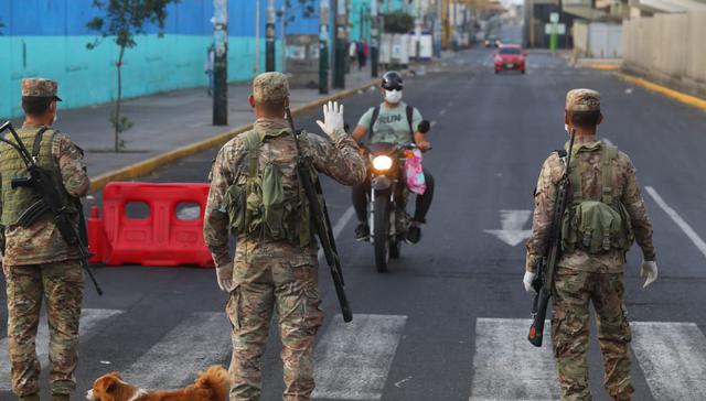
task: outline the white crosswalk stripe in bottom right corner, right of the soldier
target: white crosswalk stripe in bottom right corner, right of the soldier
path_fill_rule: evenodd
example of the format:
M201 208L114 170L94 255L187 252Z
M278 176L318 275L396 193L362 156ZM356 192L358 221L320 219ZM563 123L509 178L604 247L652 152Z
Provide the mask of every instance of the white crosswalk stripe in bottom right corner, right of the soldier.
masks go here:
M706 400L706 337L694 323L632 323L632 349L655 400Z

